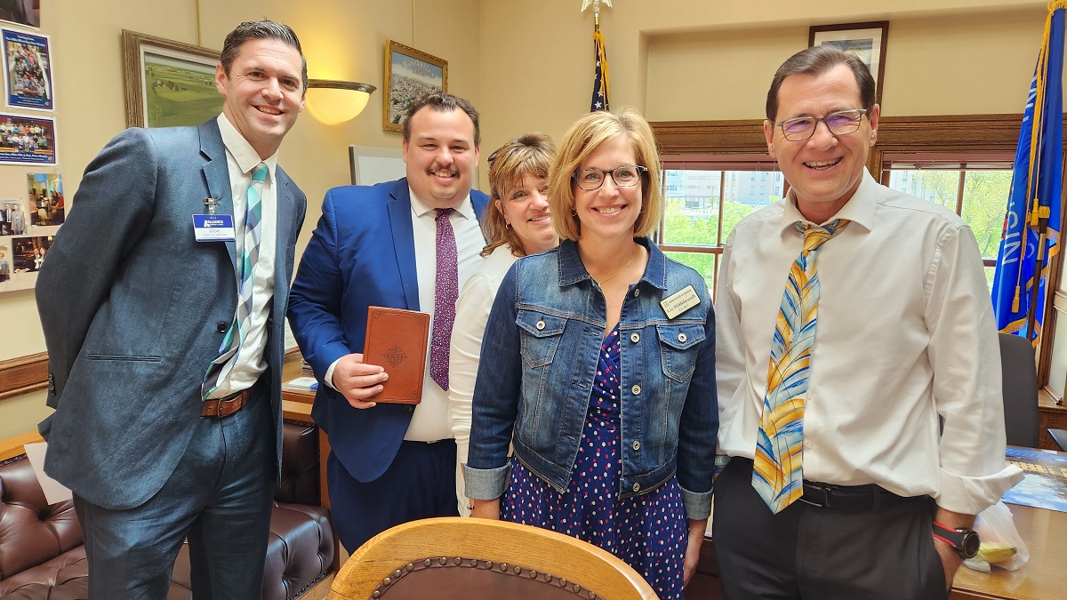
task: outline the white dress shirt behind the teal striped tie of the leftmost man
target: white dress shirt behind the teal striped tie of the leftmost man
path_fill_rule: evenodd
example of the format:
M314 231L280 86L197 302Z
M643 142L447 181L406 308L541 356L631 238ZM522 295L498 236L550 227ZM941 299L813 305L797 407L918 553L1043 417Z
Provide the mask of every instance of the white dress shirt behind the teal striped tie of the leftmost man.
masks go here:
M219 132L222 143L226 146L226 168L229 170L230 193L234 198L234 231L236 233L235 256L240 257L244 249L244 210L248 204L249 185L252 183L252 172L264 162L267 164L267 180L260 190L262 220L259 224L259 258L253 267L252 283L252 315L249 331L241 343L237 362L230 372L211 392L211 398L221 398L234 392L251 388L262 372L267 370L267 360L264 350L267 348L267 317L270 316L271 298L274 297L274 249L277 235L277 153L266 159L259 154L234 127L226 115L218 117ZM214 242L219 243L219 242ZM237 271L234 271L237 286Z

